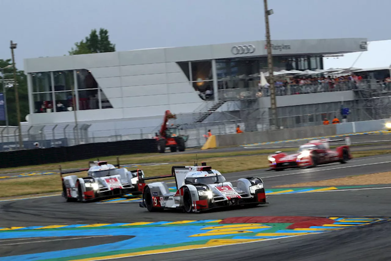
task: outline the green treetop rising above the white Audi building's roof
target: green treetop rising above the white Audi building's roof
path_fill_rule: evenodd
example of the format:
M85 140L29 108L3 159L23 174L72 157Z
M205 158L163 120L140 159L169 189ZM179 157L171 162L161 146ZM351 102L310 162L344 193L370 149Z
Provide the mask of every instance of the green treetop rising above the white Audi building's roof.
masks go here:
M111 44L109 40L109 31L100 28L99 35L96 29L91 30L90 35L84 40L75 43L75 47L72 47L68 53L69 55L74 55L107 52L115 52L115 44Z

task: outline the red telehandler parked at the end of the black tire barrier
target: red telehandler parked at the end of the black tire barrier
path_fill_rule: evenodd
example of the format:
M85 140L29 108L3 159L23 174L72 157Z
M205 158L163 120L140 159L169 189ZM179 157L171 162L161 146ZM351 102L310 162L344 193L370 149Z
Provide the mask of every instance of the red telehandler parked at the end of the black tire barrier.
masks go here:
M185 151L185 142L188 136L180 135L177 125L168 126L170 119L176 119L176 115L167 110L164 114L163 124L161 125L159 135L154 137L157 140L158 152L164 153L166 147L170 147L171 152Z

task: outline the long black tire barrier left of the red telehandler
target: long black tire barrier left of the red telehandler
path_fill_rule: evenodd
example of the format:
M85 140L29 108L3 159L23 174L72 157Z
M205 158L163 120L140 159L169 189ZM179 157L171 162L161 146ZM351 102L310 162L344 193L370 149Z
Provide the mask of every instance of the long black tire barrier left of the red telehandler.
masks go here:
M156 148L156 140L144 139L88 143L71 147L14 150L0 152L0 168L60 163L125 154L152 153L157 152Z

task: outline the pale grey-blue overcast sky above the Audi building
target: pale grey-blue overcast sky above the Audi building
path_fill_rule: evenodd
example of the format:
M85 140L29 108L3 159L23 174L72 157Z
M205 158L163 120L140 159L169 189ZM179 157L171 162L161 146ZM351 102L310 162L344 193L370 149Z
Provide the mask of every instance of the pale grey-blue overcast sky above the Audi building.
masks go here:
M269 0L273 39L391 39L391 0ZM104 27L117 51L264 40L262 0L0 0L0 59L61 56Z

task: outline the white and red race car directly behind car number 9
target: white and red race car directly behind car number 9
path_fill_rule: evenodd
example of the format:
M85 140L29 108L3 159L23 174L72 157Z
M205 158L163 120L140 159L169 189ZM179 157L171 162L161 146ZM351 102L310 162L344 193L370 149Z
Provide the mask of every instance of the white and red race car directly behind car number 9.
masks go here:
M141 195L145 183L142 170L127 170L118 164L108 164L107 161L90 161L88 169L62 172L63 197L66 201L92 201L98 198L110 198L125 194ZM78 178L76 175L63 177L64 174L88 170L88 176Z

